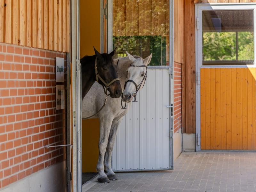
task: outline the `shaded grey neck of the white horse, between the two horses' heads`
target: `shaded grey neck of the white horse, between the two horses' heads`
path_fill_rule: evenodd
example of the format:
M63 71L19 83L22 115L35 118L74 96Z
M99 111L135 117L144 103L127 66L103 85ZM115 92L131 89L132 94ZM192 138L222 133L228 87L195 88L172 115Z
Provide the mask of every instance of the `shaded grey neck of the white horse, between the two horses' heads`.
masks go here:
M128 75L127 69L132 64L132 61L128 59L128 57L120 58L117 66L117 75L120 79L120 84L122 86L122 89L124 90L124 84L126 81L126 77Z

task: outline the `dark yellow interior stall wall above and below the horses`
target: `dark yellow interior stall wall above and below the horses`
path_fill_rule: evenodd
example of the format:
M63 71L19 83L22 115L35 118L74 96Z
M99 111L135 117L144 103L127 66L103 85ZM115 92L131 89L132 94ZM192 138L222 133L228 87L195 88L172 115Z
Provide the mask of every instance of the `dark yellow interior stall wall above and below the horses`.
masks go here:
M100 51L100 1L80 1L80 58ZM96 172L100 135L98 119L82 121L82 171Z

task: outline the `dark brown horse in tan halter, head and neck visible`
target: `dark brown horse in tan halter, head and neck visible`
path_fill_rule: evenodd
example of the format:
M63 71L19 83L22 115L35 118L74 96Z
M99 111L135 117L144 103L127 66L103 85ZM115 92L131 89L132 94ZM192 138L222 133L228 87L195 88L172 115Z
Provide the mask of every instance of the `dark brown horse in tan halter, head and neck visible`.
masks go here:
M106 95L107 91L109 91L110 97L121 97L122 87L119 79L117 78L116 64L112 58L115 51L116 49L109 54L100 54L94 48L95 55L84 56L82 59L80 59L82 75L82 100L95 81L103 86Z

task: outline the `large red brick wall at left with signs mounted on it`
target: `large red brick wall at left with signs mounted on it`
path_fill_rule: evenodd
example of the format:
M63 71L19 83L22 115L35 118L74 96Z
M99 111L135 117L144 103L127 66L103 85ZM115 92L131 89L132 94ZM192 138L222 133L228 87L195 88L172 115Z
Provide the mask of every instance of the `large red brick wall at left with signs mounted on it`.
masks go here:
M64 148L44 148L66 143L66 111L55 109L56 56L66 60L0 43L0 188L66 159Z

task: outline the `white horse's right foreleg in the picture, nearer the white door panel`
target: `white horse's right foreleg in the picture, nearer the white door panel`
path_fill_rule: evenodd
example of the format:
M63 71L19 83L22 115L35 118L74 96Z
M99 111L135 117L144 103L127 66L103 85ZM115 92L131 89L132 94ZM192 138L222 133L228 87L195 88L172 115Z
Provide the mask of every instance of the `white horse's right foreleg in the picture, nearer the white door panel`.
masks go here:
M107 171L107 176L109 180L117 180L116 174L113 172L111 167L111 159L112 159L113 147L116 140L116 132L119 125L121 124L121 121L122 121L122 117L113 120L109 137L108 137L108 145L107 145L107 150L106 150L105 159L104 159L104 169Z

